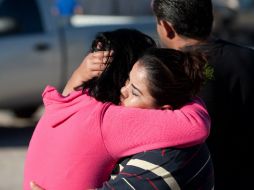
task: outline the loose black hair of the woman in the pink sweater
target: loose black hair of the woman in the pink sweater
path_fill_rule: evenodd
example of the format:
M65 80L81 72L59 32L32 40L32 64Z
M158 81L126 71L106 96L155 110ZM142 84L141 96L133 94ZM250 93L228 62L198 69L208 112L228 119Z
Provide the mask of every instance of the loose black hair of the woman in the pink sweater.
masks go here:
M113 57L99 77L83 83L83 89L87 89L91 96L101 102L118 104L120 89L124 86L132 66L144 51L151 47L156 47L155 41L135 29L98 33L92 43L91 52L113 50Z

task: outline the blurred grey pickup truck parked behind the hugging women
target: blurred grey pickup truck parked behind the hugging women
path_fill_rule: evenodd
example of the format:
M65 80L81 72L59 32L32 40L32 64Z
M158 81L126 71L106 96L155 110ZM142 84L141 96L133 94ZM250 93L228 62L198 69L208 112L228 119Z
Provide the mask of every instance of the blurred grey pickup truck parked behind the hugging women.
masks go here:
M0 109L29 116L47 84L61 88L100 31L156 34L152 16L53 16L51 0L0 0ZM124 36L123 36L124 37Z

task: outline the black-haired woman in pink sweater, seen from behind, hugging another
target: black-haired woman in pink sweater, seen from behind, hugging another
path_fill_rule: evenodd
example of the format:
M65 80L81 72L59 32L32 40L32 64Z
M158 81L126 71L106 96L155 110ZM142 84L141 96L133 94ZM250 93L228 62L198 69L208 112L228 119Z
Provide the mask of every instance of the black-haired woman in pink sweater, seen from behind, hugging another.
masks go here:
M102 46L98 42L103 42ZM185 102L179 110L125 108L109 103L119 100L119 86L127 79L130 64L154 46L151 38L137 31L117 30L98 36L95 44L102 50L108 45L114 51L99 77L84 83L84 90L63 96L77 81L84 81L79 78L83 76L79 68L63 95L53 87L43 93L45 113L34 131L25 163L26 190L31 180L47 190L100 187L122 157L161 147L199 144L209 134L209 116L199 99ZM89 56L99 57L101 53ZM118 57L126 54L124 59Z

